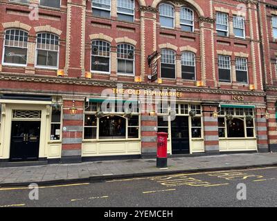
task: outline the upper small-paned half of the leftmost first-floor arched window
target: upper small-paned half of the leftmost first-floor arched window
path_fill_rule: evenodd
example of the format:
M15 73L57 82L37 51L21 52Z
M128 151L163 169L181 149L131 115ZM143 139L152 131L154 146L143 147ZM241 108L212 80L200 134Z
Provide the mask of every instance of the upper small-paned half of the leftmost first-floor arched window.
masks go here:
M27 48L28 33L17 29L6 30L5 46Z

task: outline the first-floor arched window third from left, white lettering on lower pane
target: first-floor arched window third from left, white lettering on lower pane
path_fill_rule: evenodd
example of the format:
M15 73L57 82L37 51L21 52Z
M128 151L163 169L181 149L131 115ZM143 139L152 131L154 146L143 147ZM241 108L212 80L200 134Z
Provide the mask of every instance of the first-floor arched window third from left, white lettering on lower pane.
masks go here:
M110 44L106 41L92 41L91 70L109 73Z

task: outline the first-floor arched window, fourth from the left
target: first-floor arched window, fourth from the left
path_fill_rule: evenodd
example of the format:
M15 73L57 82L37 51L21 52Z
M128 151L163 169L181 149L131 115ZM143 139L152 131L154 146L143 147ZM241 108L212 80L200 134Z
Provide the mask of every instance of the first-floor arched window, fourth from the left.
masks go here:
M117 72L125 75L134 75L134 46L118 44Z

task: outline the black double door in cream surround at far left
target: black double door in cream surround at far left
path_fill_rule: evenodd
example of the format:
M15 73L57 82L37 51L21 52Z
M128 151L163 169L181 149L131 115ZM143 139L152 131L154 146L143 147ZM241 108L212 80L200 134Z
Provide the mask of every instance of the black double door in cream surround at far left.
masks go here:
M40 122L12 122L10 161L31 161L39 157Z

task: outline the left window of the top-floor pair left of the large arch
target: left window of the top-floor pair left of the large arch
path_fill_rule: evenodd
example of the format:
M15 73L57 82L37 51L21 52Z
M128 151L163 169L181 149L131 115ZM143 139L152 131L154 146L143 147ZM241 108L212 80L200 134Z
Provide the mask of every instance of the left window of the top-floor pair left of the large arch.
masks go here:
M92 0L92 14L109 18L111 16L111 0Z

